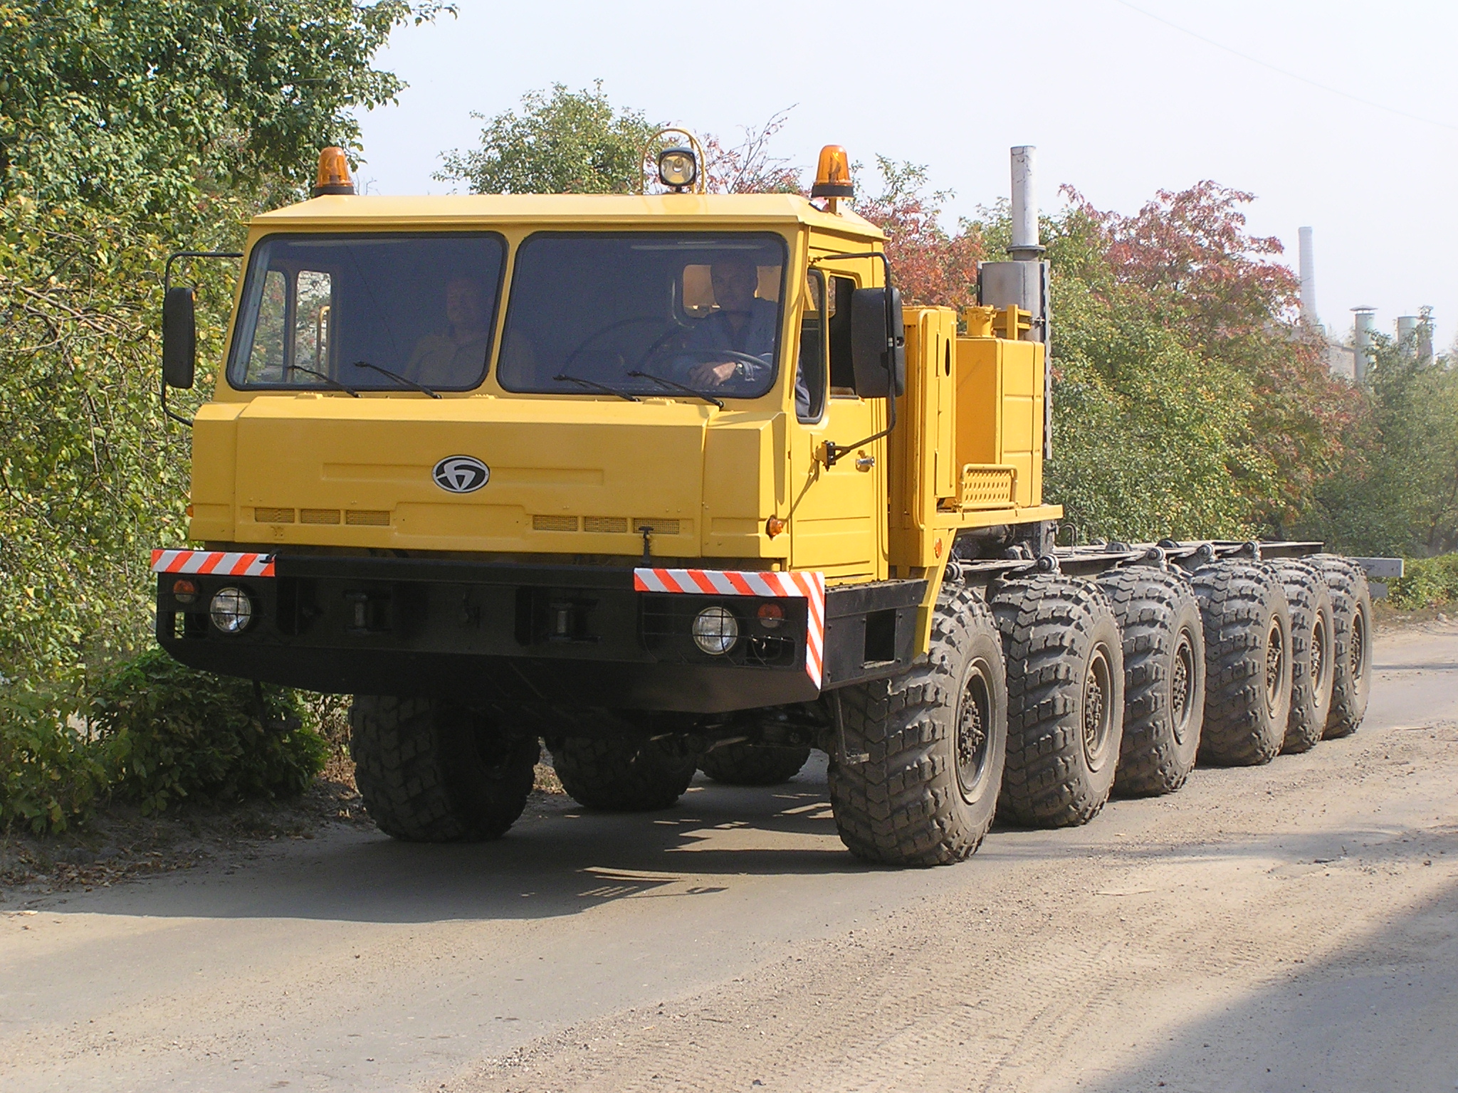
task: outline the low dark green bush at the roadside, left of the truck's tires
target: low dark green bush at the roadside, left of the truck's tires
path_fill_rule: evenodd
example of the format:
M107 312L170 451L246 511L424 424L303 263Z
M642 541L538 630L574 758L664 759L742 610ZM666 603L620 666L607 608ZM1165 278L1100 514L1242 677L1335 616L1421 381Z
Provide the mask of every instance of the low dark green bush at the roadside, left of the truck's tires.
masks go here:
M197 672L160 649L111 669L90 700L114 790L143 813L302 793L330 751L306 713L293 691Z

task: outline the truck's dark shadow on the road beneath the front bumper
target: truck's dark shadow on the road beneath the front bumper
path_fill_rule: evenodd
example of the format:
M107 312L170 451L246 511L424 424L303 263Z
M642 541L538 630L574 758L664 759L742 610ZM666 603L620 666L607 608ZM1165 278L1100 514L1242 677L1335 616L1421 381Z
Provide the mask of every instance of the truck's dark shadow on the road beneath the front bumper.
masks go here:
M335 831L109 893L67 911L424 922L580 914L614 899L682 899L732 879L872 871L835 834L824 777L767 788L701 778L672 809L595 813L548 799L496 842L426 845Z

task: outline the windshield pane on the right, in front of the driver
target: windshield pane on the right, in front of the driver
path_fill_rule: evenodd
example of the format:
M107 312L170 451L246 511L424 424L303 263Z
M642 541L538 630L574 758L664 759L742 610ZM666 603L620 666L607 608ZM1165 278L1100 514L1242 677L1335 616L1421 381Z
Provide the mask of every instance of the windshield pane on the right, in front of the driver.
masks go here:
M770 233L534 235L518 249L497 379L553 393L763 395L783 273L784 240Z

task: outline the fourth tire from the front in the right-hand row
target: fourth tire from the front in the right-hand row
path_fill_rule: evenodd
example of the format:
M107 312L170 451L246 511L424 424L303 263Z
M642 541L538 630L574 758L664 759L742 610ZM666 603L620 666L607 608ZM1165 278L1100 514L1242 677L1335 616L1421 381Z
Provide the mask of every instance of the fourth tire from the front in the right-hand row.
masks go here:
M1204 727L1200 761L1270 762L1290 717L1290 609L1266 565L1219 561L1190 581L1204 624Z

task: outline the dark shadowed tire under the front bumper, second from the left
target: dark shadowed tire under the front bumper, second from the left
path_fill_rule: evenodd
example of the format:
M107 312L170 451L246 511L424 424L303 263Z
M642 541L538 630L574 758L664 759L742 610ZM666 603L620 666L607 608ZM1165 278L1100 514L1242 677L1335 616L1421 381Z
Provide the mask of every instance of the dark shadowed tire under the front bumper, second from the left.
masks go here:
M675 755L649 740L617 714L605 736L566 736L550 742L557 778L567 794L588 809L604 812L653 812L672 807L684 796L698 769L695 756Z

